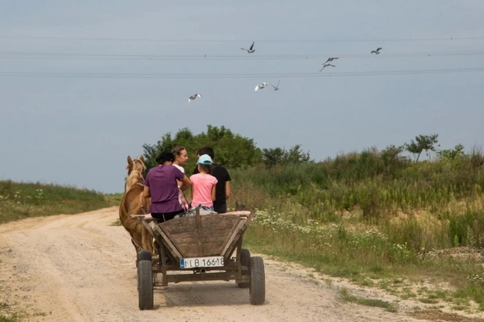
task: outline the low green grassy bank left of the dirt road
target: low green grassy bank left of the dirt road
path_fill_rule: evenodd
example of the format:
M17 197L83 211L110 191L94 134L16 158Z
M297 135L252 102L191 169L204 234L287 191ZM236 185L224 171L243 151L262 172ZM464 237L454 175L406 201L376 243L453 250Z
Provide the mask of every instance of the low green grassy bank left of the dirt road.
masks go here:
M120 195L55 184L0 180L0 224L23 218L78 214L119 205Z

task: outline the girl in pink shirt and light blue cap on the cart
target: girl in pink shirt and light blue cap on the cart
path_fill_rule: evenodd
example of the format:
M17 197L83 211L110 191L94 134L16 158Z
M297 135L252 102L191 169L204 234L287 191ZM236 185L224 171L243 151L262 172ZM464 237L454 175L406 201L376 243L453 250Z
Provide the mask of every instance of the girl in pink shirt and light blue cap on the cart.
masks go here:
M192 181L192 207L204 205L214 210L215 184L217 180L212 173L212 158L204 154L198 158L198 172L190 177Z

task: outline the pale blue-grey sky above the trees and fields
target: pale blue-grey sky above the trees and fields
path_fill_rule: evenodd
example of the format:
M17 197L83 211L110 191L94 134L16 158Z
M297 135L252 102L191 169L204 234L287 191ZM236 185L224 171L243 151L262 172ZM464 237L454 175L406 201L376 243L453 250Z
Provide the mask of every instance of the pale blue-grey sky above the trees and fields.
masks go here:
M469 151L484 143L483 12L481 0L1 1L0 179L122 192L127 155L207 124L315 160L431 133ZM327 57L336 67L319 73Z

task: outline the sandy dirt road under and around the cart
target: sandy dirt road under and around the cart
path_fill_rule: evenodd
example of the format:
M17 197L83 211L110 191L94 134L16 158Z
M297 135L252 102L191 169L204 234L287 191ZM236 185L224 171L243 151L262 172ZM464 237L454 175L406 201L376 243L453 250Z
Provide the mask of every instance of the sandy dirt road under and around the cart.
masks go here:
M113 207L0 225L0 300L28 321L422 321L345 303L266 258L266 303L235 283L170 284L138 310L135 252ZM250 228L249 228L250 229Z

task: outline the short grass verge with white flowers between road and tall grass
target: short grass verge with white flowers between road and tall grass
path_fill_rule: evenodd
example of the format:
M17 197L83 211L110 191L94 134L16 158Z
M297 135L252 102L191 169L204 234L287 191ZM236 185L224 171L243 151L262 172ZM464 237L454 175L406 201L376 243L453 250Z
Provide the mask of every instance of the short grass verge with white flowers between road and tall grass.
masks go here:
M388 292L401 294L402 298L415 296L396 290L409 279L448 282L452 292L430 292L422 288L418 299L422 303L464 299L484 305L483 267L474 261L452 257L427 255L424 258L418 247L412 245L418 237L412 232L417 225L414 219L394 225L385 222L355 228L346 227L344 223L321 224L310 219L301 222L297 216L297 212L257 211L244 235L244 247L252 252L299 262L322 274L348 278L357 285L378 285ZM422 231L428 240L441 238L443 234L440 226L435 231L429 227ZM398 238L408 239L403 242ZM376 278L380 279L378 283L372 281Z

